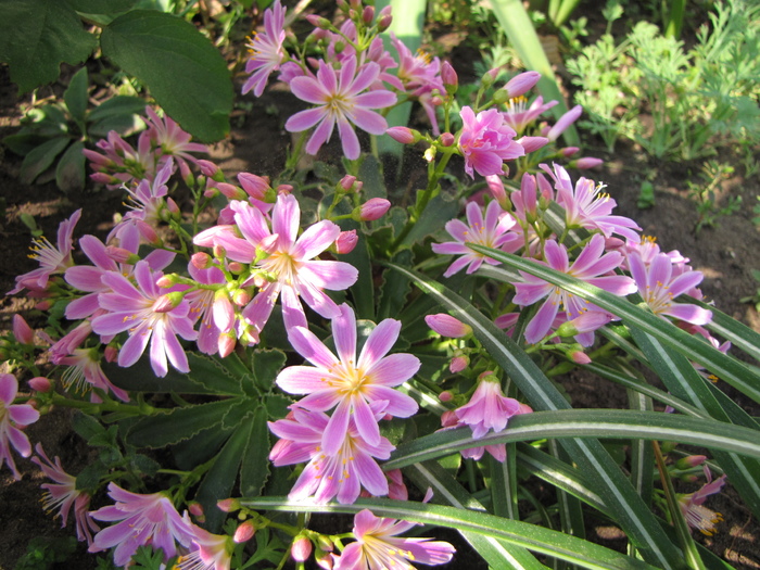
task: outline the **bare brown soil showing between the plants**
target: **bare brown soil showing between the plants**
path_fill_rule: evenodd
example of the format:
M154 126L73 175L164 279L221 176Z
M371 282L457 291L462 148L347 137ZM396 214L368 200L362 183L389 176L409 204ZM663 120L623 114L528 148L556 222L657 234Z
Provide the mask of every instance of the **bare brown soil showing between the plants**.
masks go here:
M282 124L288 116L291 96L273 89L252 102L249 112L238 112L239 123L228 140L214 148L213 157L228 173L249 170L265 175L282 164L284 148L289 141ZM24 99L28 101L28 98ZM18 111L15 88L10 86L7 68L0 66L0 138L17 127ZM263 137L262 134L268 134ZM756 175L744 179L740 169L722 187L724 194L740 194L745 207L730 217L721 218L715 228L693 231L697 214L687 197L686 180L697 180L698 165L657 163L648 160L637 149L621 147L615 155L595 151L594 141L587 141L586 154L607 160L606 164L590 176L606 182L610 195L618 201L619 212L638 221L646 235L656 236L664 250L676 249L691 257L693 266L705 274L702 291L724 313L760 331L760 318L752 305L739 299L751 295L760 283L751 270L760 269L760 233L752 223L751 205L760 195L760 181ZM0 291L13 287L14 277L35 267L27 258L29 232L20 221L23 213L35 216L45 235L54 238L59 223L71 213L84 207L76 236L94 233L103 237L110 227L104 213L119 208L121 197L103 189L84 190L63 195L52 182L23 186L17 180L21 160L0 147L0 197L5 200L5 212L0 220ZM636 208L638 188L644 177L654 174L656 206ZM22 314L30 322L40 325L34 304L24 296L0 295L0 330L8 330L12 316ZM620 402L621 391L615 385L588 383L585 377L571 377L566 388L575 405L613 407ZM739 398L750 413L760 415L751 402ZM87 464L88 451L68 430L68 413L55 410L42 421L30 426L27 433L33 442L41 441L48 454L60 455L64 467L76 471ZM0 471L0 570L10 570L26 550L29 539L38 535L66 536L68 529L60 529L60 521L47 516L38 504L43 482L41 473L25 459L17 465L23 480L13 482L10 471ZM691 489L686 490L691 491ZM708 506L721 511L725 522L720 533L712 537L699 535L697 540L737 568L760 568L760 529L736 493L726 485L726 492L710 498ZM616 529L599 525L590 529L590 537L611 547L619 547ZM469 557L467 557L469 558ZM471 561L463 563L471 565ZM76 556L62 568L94 568L94 557L80 546ZM461 565L459 565L461 568Z

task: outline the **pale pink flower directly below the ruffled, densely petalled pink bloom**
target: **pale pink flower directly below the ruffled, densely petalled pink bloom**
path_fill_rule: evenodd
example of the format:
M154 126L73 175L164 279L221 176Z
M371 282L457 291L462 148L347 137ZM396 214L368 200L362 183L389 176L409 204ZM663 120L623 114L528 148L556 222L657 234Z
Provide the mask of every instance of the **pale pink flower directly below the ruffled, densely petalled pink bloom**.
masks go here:
M446 273L443 274L444 277L451 277L465 267L467 267L468 274L472 274L480 268L483 262L489 265L499 264L499 262L471 250L467 245L468 243L486 245L510 253L521 245L517 233L509 231L515 226L515 218L502 210L498 203L489 203L485 208L485 219L483 219L480 206L474 202L467 204L466 214L469 226L459 219L446 223L446 231L456 241L432 244L435 253L461 255L448 266Z

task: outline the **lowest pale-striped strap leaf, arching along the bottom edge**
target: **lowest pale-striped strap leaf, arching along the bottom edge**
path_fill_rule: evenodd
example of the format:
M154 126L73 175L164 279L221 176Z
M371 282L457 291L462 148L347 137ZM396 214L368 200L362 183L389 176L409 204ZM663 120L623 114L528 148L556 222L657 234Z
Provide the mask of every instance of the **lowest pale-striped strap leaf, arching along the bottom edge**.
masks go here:
M561 532L527 522L504 519L487 512L443 505L384 498L359 498L353 505L315 505L307 502L295 503L287 497L261 497L244 499L241 503L255 510L284 510L293 512L347 512L353 515L368 508L377 517L448 527L459 531L470 531L484 536L493 536L532 552L567 560L582 568L628 570L656 568L642 560L636 560L624 554Z

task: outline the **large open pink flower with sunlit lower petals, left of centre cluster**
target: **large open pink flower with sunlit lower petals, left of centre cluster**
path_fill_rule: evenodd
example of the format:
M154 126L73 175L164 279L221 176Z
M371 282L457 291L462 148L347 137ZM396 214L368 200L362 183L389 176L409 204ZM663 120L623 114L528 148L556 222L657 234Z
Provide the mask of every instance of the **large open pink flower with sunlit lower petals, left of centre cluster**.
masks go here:
M92 319L92 330L98 334L129 332L118 354L118 365L124 367L134 365L150 341L151 366L163 377L168 371L167 357L180 372L190 371L177 334L185 340L195 340L198 333L192 328L190 305L186 300L166 309L166 293L172 290L162 290L156 284L162 276L161 271L152 271L144 259L135 266L136 286L116 273L103 276L103 282L112 292L101 293L98 299L109 313Z

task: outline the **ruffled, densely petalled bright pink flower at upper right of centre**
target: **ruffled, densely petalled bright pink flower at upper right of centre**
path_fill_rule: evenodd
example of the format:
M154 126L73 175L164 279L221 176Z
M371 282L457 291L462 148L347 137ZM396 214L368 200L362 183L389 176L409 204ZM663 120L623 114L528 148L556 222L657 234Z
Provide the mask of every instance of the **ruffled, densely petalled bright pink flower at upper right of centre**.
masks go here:
M459 150L465 156L465 172L474 178L472 170L481 176L502 174L504 161L524 156L525 150L512 139L515 130L509 127L495 109L481 111L476 116L471 107L459 112L463 121Z

